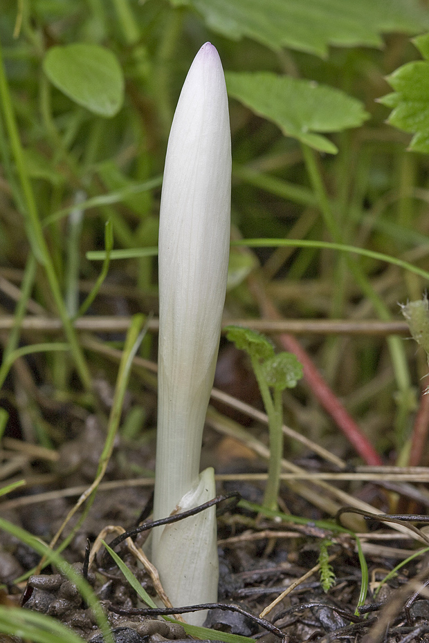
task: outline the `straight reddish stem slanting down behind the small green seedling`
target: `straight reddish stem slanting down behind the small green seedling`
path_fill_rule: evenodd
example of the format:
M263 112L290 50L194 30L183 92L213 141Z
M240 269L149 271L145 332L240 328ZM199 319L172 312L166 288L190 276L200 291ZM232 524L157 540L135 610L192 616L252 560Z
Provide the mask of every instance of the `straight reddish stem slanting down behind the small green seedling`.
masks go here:
M262 285L252 280L249 284L253 290L253 295L257 298L259 306L264 317L269 319L280 319L280 313L275 308L273 302L268 298ZM360 457L367 465L378 466L383 464L383 460L378 455L367 436L358 427L352 416L346 411L343 404L336 397L334 392L329 388L327 382L322 378L318 369L313 364L311 357L304 351L298 339L289 333L282 333L279 336L280 344L286 351L289 351L298 357L304 371L304 379L309 384L311 391L329 413L331 418L336 422L338 429L343 432L350 444L356 449ZM427 396L429 398L429 395Z

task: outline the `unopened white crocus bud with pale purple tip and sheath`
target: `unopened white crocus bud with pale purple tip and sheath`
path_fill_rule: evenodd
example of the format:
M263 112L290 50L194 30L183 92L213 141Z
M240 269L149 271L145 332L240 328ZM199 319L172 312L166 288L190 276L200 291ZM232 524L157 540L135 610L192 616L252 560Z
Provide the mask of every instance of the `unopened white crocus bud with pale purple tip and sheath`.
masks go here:
M225 301L230 241L228 98L217 50L194 59L170 131L159 230L158 431L154 519L215 496L199 474ZM153 534L152 559L173 606L217 599L215 507ZM192 613L201 624L205 615Z

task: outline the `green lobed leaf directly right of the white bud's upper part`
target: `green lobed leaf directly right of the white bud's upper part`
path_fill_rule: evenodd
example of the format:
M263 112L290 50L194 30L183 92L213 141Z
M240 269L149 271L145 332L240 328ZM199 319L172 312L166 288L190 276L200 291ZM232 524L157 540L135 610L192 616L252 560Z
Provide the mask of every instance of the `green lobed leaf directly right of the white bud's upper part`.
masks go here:
M369 118L355 98L309 80L270 72L229 72L226 86L230 96L273 121L285 136L331 154L338 151L334 143L316 132L358 127Z

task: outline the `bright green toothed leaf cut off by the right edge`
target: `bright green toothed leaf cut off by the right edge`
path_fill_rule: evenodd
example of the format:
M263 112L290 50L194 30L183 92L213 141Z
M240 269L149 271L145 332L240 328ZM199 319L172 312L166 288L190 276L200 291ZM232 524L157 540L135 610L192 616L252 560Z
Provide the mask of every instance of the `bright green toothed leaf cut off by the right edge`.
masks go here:
M410 149L429 153L429 34L414 39L426 60L409 62L387 77L394 92L379 102L390 107L388 122L414 134Z

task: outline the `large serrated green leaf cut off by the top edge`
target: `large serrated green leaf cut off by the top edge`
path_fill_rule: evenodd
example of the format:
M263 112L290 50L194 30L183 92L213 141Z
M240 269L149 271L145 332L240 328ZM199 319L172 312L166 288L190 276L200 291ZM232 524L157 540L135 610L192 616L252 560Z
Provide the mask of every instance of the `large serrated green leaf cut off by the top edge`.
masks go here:
M231 39L326 56L329 45L383 46L381 34L419 33L429 13L417 0L171 0L191 4L208 27Z

